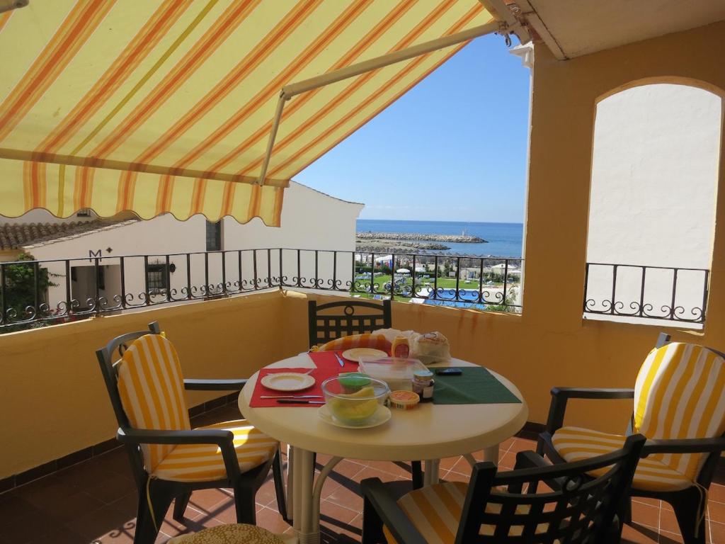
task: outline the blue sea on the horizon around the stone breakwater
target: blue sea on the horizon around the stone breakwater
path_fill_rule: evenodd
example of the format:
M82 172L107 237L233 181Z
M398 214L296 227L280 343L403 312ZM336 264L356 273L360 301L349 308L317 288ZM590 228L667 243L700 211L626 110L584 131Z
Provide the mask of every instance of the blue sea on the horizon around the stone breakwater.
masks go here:
M447 252L460 255L521 257L523 223L474 223L471 221L394 221L358 219L358 232L404 232L415 234L468 234L479 236L486 244L455 244ZM427 252L427 251L426 251ZM431 252L434 253L434 252Z

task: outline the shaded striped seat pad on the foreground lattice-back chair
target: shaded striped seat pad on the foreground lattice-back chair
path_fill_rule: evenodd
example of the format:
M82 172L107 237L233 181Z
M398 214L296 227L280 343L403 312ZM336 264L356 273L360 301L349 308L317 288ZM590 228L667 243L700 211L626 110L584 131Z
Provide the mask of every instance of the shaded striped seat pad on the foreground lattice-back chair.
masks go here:
M398 506L413 522L418 532L426 537L428 544L453 544L460 524L466 493L468 493L468 484L444 482L408 493L398 500ZM528 509L528 505L521 505L516 508L516 513L528 514ZM489 514L498 514L500 511L499 503L486 505L486 512ZM548 527L548 524L540 524L537 532L546 532ZM494 525L483 524L479 529L479 535L492 536L495 529ZM397 544L387 527L383 527L383 532L388 544ZM511 536L521 536L522 533L523 526L512 525L510 527Z

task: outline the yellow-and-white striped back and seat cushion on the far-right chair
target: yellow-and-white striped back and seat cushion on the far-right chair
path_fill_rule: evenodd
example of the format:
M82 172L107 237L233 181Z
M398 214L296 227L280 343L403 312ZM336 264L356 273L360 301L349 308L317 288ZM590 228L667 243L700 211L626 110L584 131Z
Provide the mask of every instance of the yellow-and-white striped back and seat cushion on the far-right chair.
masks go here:
M718 437L725 432L725 360L705 347L672 342L652 350L634 385L634 432L655 440ZM624 436L563 427L553 443L566 461L621 448ZM634 487L694 485L706 454L656 454L639 461Z

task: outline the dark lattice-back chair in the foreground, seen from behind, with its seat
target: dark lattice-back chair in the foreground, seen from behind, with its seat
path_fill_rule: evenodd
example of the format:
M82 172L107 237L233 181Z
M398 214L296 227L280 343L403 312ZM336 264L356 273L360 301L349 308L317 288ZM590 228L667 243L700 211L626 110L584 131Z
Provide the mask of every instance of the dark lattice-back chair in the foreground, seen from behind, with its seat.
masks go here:
M431 531L446 544L616 542L616 512L644 443L645 437L633 435L621 450L560 465L520 452L513 471L497 474L493 463L477 463L468 485L436 484L397 502L380 479L365 479L363 544L425 544ZM591 471L600 475L586 477ZM524 485L539 482L551 490L524 493Z

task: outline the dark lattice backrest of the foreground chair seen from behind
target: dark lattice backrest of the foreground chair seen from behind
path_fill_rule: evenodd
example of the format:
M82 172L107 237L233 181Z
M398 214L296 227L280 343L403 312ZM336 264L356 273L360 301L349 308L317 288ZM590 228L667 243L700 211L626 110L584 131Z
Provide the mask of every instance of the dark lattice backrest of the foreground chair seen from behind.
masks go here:
M502 474L493 463L478 463L465 495L456 544L612 541L614 516L644 444L645 437L634 434L621 450L605 456ZM592 471L599 474L594 479L587 477ZM541 482L550 483L553 491L523 493L524 485Z

